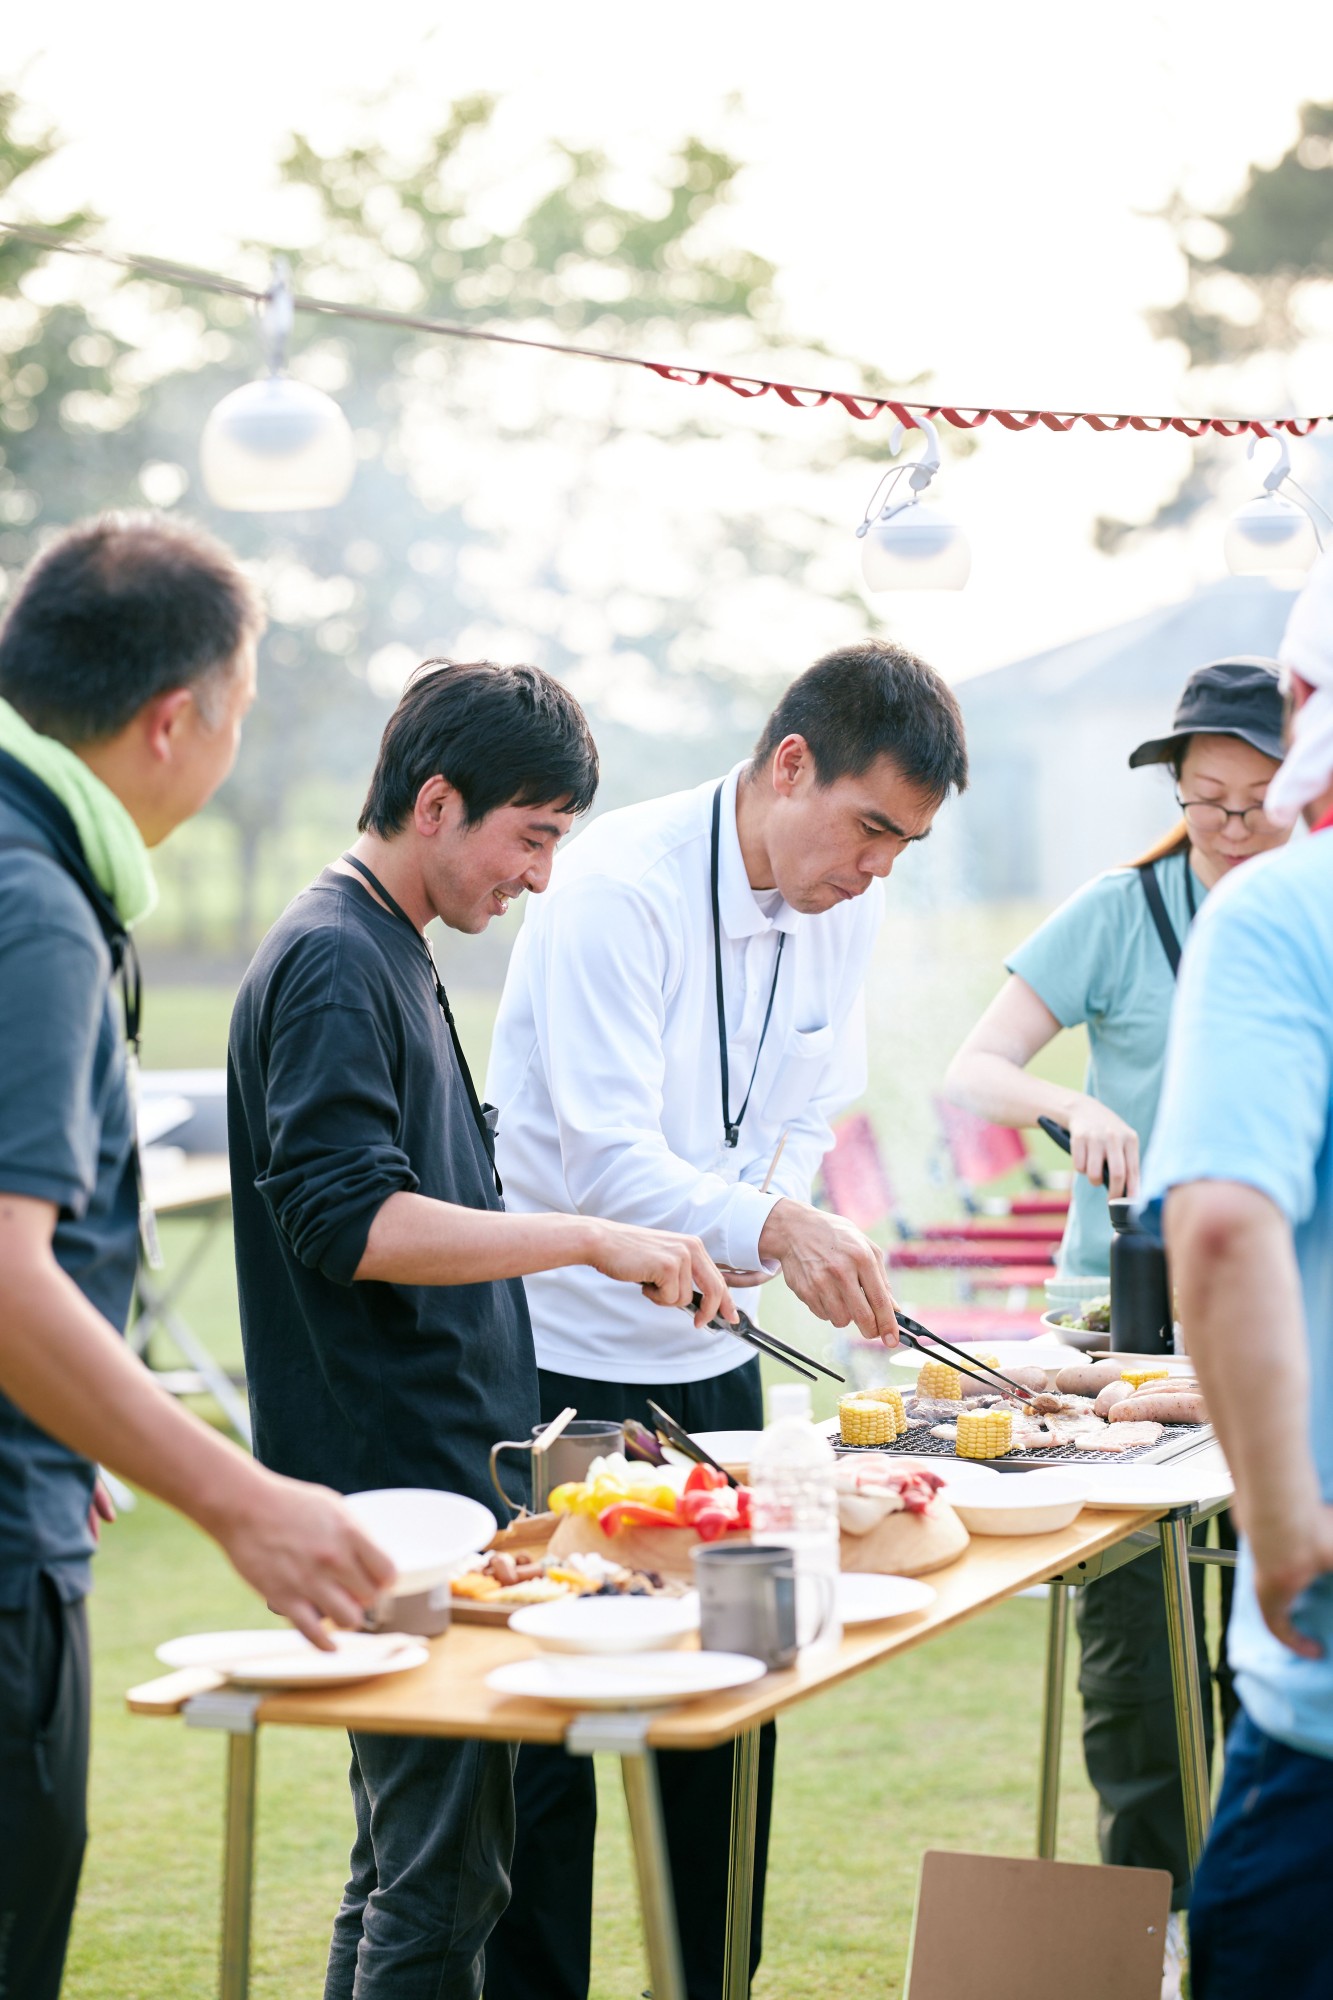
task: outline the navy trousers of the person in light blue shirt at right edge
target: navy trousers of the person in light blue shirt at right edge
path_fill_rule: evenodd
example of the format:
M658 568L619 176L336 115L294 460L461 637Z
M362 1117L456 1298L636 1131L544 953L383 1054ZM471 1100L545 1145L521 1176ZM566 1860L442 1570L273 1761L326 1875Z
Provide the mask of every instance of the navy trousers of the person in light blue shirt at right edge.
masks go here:
M1195 2000L1329 2000L1329 1884L1333 1756L1289 1750L1241 1712L1189 1908Z

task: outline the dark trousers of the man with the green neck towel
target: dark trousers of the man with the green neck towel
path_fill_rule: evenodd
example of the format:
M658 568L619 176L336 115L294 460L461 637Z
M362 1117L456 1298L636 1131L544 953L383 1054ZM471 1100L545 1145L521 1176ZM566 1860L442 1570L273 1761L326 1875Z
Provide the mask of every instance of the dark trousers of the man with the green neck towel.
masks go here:
M88 1840L88 1620L48 1576L0 1610L0 1994L56 2000Z

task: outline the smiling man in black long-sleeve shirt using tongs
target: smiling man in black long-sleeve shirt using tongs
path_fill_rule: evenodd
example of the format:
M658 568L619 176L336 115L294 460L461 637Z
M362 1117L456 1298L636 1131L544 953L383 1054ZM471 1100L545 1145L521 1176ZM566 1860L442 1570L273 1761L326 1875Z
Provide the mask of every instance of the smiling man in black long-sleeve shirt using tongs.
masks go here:
M342 1492L484 1498L536 1422L518 1282L594 1264L731 1312L687 1236L506 1216L422 936L546 886L596 790L578 704L534 668L440 666L394 710L360 840L278 918L232 1018L228 1134L254 1444ZM326 2000L476 2000L508 1896L506 1744L352 1736L356 1844Z

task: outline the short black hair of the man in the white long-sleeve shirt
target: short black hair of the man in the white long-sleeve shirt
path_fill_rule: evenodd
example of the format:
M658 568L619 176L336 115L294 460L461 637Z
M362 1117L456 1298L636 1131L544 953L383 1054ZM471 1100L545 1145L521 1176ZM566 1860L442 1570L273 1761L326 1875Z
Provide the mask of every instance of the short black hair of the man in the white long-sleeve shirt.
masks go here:
M755 744L755 770L785 736L805 736L819 784L859 778L887 756L931 798L967 790L967 736L953 690L925 660L883 638L839 646L793 680Z

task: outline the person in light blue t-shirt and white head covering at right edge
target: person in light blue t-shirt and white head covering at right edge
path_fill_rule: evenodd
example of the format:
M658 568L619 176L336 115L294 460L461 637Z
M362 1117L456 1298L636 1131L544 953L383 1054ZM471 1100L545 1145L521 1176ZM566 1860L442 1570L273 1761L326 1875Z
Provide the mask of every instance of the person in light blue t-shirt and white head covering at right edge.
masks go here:
M1333 556L1279 662L1291 748L1265 810L1315 838L1209 898L1145 1166L1243 1530L1195 2000L1333 1992Z

